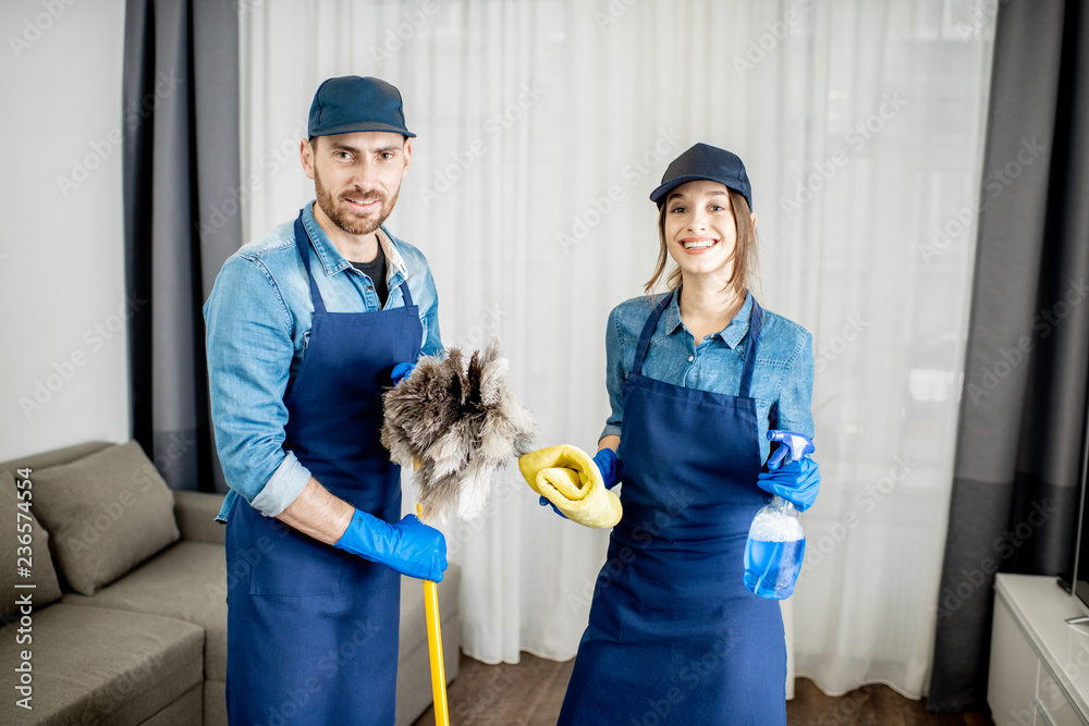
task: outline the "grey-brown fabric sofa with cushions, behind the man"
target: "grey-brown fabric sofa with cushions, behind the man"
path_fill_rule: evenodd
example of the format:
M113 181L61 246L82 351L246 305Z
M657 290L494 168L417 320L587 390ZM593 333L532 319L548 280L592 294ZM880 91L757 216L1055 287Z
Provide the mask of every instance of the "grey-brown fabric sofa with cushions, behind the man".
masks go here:
M221 502L169 490L135 442L0 464L0 723L225 724ZM460 582L439 586L448 682ZM431 703L423 587L402 586L399 726Z

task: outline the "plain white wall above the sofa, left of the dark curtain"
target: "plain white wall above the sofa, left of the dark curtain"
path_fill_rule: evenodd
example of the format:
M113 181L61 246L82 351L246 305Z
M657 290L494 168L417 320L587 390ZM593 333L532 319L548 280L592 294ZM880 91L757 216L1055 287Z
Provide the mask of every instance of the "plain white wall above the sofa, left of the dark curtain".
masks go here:
M0 460L130 435L124 0L0 3Z

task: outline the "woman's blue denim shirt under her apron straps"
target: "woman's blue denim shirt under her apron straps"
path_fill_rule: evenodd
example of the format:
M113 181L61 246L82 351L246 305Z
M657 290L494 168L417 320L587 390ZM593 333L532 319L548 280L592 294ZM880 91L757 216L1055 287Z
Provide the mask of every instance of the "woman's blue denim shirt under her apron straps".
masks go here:
M662 297L635 297L609 313L605 385L612 415L601 432L602 438L621 435L624 381L635 364L639 333ZM696 345L695 336L681 320L681 308L674 295L650 339L643 374L686 389L736 396L749 344L751 313L752 295L749 294L725 329L707 335ZM760 460L767 462L769 428L797 431L812 439L813 346L812 336L802 325L767 309L763 313L749 395L756 398Z

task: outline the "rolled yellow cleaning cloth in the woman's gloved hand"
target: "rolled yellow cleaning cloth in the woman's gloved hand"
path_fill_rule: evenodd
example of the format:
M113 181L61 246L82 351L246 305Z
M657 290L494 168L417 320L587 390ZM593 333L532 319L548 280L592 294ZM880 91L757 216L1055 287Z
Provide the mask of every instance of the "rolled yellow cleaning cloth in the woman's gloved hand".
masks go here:
M526 482L567 519L601 529L620 521L620 497L605 489L598 465L583 450L570 444L549 446L518 457Z

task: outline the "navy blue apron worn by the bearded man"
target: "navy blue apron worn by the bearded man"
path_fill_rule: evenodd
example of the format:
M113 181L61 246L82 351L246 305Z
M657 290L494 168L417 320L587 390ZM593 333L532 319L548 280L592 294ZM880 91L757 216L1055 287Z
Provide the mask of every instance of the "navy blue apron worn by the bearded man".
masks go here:
M382 387L415 361L423 325L404 307L328 312L302 214L295 244L314 325L287 406L284 448L355 507L401 518L400 467L379 442ZM245 500L228 520L227 703L232 724L393 724L401 576L264 517Z

